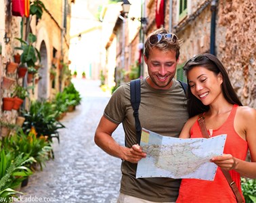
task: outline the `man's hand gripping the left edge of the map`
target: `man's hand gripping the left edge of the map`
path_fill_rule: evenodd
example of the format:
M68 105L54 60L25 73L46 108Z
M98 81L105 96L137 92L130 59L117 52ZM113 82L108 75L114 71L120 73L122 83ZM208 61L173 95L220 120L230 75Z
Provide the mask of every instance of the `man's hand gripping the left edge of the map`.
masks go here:
M142 158L146 158L146 153L142 152L142 148L140 147L140 145L132 145L131 148L125 149L124 159L127 160L128 162L136 164Z

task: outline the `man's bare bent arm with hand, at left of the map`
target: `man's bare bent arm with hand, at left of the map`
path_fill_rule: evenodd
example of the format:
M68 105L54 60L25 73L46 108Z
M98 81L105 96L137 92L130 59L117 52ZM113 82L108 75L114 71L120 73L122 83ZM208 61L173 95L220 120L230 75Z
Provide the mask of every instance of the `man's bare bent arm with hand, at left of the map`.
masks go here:
M133 145L132 148L126 148L125 146L121 146L119 143L116 143L111 135L117 127L118 125L114 122L111 122L102 116L95 131L94 141L96 145L111 156L115 156L132 163L137 163L142 158L145 158L146 154L142 152L142 149L137 147L137 145Z

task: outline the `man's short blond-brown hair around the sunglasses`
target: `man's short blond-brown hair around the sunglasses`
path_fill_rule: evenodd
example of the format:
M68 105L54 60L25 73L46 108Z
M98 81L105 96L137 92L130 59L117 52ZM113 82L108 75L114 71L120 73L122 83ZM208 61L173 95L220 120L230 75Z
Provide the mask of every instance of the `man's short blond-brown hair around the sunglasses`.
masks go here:
M156 43L155 45L150 44L149 42L150 36L157 35L157 34L168 34L168 32L165 28L159 28L158 30L155 30L150 35L148 35L145 42L145 51L144 51L144 55L146 56L146 58L149 57L151 49L155 47L156 49L159 49L161 51L170 51L170 50L175 51L176 60L177 60L179 58L179 49L180 49L180 46L182 45L182 40L177 39L177 41L172 41L169 38L163 37L163 39L161 39L161 41Z

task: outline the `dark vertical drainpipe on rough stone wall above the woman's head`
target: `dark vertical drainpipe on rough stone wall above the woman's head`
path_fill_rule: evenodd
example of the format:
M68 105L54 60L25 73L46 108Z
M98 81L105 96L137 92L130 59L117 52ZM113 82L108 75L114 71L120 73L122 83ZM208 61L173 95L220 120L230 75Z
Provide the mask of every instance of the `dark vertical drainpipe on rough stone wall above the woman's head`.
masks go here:
M211 44L210 53L215 55L215 28L216 28L217 0L211 1Z

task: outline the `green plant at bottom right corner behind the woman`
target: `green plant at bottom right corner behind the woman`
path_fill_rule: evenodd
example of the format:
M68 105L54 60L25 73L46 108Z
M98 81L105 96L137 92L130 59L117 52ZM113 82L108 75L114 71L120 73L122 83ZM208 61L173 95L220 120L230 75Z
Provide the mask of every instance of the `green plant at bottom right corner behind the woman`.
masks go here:
M241 179L242 194L245 202L255 203L256 202L256 179Z

